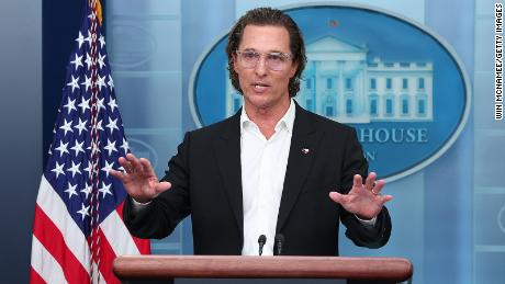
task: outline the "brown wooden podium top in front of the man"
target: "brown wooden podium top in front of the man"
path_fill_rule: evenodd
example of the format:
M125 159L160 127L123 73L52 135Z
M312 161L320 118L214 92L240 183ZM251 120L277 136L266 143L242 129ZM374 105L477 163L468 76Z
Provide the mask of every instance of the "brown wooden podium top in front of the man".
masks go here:
M124 255L114 260L113 271L123 283L166 283L181 277L340 279L347 283L382 284L408 281L413 265L402 258Z

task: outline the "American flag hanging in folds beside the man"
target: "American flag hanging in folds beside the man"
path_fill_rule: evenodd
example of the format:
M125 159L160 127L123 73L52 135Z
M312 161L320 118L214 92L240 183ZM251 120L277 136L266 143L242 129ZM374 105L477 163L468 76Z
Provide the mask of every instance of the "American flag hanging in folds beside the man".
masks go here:
M88 1L88 0L86 0ZM126 192L109 174L130 151L100 31L87 2L67 66L61 104L42 175L32 239L31 283L119 283L112 261L149 253L122 220Z

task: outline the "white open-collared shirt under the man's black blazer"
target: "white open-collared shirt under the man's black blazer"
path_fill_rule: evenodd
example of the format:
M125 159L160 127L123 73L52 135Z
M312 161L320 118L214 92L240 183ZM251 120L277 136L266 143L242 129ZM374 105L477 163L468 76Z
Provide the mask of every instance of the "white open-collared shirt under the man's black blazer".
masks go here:
M240 115L240 164L244 206L243 255L258 255L258 237L267 242L262 255L273 254L277 217L284 185L293 133L295 106L291 104L267 139L243 109Z

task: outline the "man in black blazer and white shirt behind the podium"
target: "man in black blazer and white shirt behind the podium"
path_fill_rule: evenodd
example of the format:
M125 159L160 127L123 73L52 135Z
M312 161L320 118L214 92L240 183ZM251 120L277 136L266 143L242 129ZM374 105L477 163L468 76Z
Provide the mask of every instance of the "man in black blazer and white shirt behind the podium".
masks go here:
M226 48L233 86L244 95L234 116L186 134L161 181L146 159L120 158L111 171L131 200L133 235L164 238L191 214L195 254L338 254L338 220L357 246L386 243L391 220L354 128L301 109L292 99L306 63L301 32L279 10L247 12ZM367 177L364 184L362 177Z

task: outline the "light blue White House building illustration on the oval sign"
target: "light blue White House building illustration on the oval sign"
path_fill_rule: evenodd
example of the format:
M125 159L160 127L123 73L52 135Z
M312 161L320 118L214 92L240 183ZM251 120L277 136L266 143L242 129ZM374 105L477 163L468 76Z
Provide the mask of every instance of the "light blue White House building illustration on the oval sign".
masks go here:
M341 123L433 121L433 64L367 61L368 48L324 36L306 45L295 100ZM226 115L242 106L227 81Z

